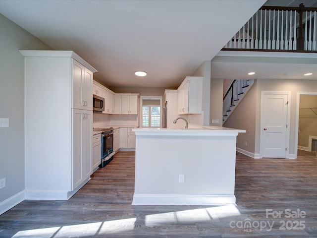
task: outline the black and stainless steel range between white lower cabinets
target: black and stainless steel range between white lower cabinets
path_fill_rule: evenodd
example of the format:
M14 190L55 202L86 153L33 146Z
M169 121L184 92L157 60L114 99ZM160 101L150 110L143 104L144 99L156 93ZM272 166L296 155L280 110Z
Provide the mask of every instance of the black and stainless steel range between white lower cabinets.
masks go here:
M99 167L105 167L113 159L113 128L93 128L93 131L102 131L101 142L101 164Z

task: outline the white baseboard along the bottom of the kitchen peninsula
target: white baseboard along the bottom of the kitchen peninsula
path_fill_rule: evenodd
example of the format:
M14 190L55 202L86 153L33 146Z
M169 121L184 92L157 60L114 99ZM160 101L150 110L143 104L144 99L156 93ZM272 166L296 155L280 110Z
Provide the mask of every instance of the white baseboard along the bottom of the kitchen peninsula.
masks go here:
M227 205L235 204L235 195L134 194L132 205Z

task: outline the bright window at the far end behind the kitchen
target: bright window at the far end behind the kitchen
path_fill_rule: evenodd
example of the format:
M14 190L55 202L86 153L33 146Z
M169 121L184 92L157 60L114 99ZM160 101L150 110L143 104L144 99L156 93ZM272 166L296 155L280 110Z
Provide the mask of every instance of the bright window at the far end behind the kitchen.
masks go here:
M142 106L142 127L159 127L160 107Z

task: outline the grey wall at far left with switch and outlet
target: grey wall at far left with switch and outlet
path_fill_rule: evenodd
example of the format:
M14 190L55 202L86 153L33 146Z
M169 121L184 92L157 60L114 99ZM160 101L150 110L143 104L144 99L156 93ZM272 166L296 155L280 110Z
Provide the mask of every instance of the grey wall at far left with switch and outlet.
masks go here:
M52 48L1 14L0 32L0 118L10 120L9 127L0 128L0 179L6 178L6 186L0 190L1 214L3 201L23 191L25 185L24 57L18 50Z

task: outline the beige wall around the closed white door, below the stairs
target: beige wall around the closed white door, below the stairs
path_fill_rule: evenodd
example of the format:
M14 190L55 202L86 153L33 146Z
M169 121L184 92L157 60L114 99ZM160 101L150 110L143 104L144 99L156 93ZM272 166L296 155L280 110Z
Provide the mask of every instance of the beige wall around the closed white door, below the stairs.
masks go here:
M237 146L251 154L260 154L260 123L261 123L261 92L262 91L287 91L291 92L290 99L290 138L289 154L297 155L297 131L296 131L296 103L298 92L317 92L317 80L283 80L283 79L262 79L257 80L245 98L233 111L224 126L246 129L246 136L237 137ZM251 94L250 94L251 93ZM249 120L249 129L246 128L246 121ZM254 148L244 146L244 142L254 138ZM251 143L252 146L252 143Z

